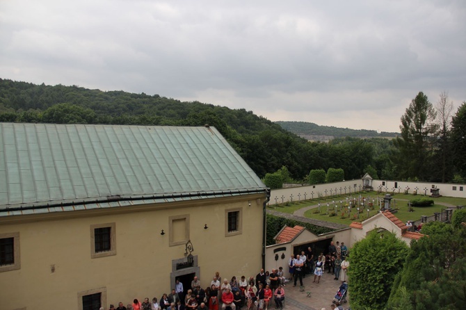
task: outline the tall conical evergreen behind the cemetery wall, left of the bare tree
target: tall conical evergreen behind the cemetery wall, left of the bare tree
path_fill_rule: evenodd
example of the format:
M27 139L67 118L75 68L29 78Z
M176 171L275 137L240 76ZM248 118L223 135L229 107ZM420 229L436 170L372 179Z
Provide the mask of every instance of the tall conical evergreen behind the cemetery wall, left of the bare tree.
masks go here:
M394 156L401 179L430 179L434 135L435 109L423 92L412 99L401 117L401 138L394 140L398 152Z

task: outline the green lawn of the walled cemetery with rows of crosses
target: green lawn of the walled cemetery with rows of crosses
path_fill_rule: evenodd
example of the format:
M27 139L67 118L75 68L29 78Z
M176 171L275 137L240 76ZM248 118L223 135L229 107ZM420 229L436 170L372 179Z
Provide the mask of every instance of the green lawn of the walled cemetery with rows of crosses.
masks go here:
M372 199L375 200L375 204L377 204L377 197L380 197L380 199L385 195L385 193L378 194L376 192L369 192L369 193L361 193L362 197L365 197L369 199L369 202L371 202ZM339 195L339 196L333 196L333 197L328 197L327 199L325 198L320 198L320 199L309 199L301 202L293 202L293 203L287 203L287 204L280 204L278 206L271 206L268 209L275 209L276 211L284 212L284 213L294 213L294 211L299 210L301 208L305 208L307 206L316 206L321 203L321 212L320 213L314 213L316 212L316 209L310 209L305 212L305 217L306 218L314 218L316 220L324 220L327 222L335 222L343 225L350 225L351 222L353 221L362 221L367 219L367 209L368 206L367 204L364 206L364 210L362 210L362 207L360 207L360 214L359 218L357 218L357 209L356 208L351 208L351 215L348 218L348 208L345 207L346 205L346 197L348 197L348 201L351 199L359 197L359 194L357 195L351 195L351 196L346 196L346 195ZM409 199L419 199L419 198L424 198L425 196L423 195L404 195L404 194L395 194L392 195L392 207L396 206L396 209L398 209L398 212L395 214L397 218L399 218L402 222L407 222L408 220L419 220L421 218L421 215L433 215L435 212L440 212L442 209L445 209L445 206L442 206L440 204L434 204L433 206L428 206L428 207L415 207L413 208L413 212L408 211L408 202L407 200ZM429 198L428 196L425 198ZM453 204L453 205L465 205L466 204L466 199L465 198L456 198L456 197L438 197L438 198L432 198L434 199L434 202L444 202L447 204ZM344 209L344 212L342 212L340 208L340 201L342 202L342 206ZM354 201L354 200L353 200ZM335 202L335 203L334 203ZM332 211L335 211L335 204L337 205L337 215L335 216L328 216L327 214L327 203L330 204L329 208L329 213ZM369 208L369 217L375 215L378 213L378 206L374 206L374 210L371 210ZM344 218L342 218L342 213L344 213Z

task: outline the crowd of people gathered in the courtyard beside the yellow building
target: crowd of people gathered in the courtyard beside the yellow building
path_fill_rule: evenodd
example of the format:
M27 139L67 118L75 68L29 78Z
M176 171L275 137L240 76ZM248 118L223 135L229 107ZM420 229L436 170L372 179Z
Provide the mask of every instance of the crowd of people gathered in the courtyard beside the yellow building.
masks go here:
M303 286L303 277L314 275L314 282L319 283L327 270L335 275L335 280L347 282L347 257L346 245L340 245L338 241L336 244L330 243L326 255L321 253L314 257L311 247L308 247L307 252L303 251L296 257L291 254L288 279L282 267L271 272L261 269L255 277L246 278L243 275L240 279L233 276L222 280L220 272L216 272L207 288L202 288L198 277L194 277L191 287L185 291L177 279L171 293L164 293L160 299L153 297L150 300L146 297L143 302L135 299L126 307L119 302L118 307L111 304L110 310L239 310L245 306L248 310L268 310L273 305L275 309L283 309L284 286L289 281L295 287L299 279L300 286Z

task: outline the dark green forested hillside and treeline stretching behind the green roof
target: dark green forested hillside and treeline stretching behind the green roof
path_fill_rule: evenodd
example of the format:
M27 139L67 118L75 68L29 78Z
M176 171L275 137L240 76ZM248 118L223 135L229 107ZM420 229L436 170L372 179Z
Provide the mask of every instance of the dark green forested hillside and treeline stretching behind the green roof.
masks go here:
M454 143L458 149L453 153L457 154L456 159L453 161L453 156L447 152L440 156L437 150L448 148L437 147L437 140L433 140L435 136L432 136L429 137L431 142L427 145L430 147L430 153L428 157L424 156L429 161L417 161L428 167L419 170L424 171L424 174L406 174L408 170L403 165L408 163L405 158L410 153L403 155L400 150L403 145L410 143L410 136L406 136L408 138L405 138L404 144L401 144L400 138L352 138L351 133L345 138L334 138L330 142L309 142L283 129L280 124L245 109L235 110L198 101L182 102L144 93L103 92L75 85L35 85L0 79L0 122L164 126L209 124L222 133L259 177L286 167L287 179L283 181L307 182L311 170L327 171L329 168L342 169L344 179L358 179L365 172L369 172L376 179L419 178L449 181L454 177L456 181L462 181L466 175L466 172L463 172L466 171L466 164L462 160L464 139L461 139L464 136L461 130L464 128L465 108L463 104L456 117L453 117L456 126L453 127L455 130L451 136L459 137ZM336 127L328 128L335 129L335 136L341 136L345 132ZM444 141L449 141L447 133L449 134L449 131L445 131ZM353 134L371 136L376 132L354 131ZM387 136L385 133L380 133L379 136L383 135ZM457 170L460 173L453 174L450 162L458 163Z

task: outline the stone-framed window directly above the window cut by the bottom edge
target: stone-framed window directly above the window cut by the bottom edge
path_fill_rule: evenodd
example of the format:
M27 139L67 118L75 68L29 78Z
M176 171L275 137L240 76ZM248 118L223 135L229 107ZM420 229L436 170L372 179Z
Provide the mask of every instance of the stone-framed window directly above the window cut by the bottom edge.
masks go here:
M90 225L90 257L116 255L115 223Z

